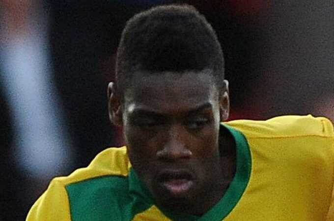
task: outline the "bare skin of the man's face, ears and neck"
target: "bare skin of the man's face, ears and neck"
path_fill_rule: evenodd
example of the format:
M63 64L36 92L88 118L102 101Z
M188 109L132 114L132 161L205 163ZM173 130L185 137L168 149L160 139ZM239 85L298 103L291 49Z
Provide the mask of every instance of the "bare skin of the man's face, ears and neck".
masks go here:
M132 82L123 99L113 83L108 96L134 170L158 206L203 215L235 174L234 140L220 131L229 113L228 82L218 89L210 70L139 71Z

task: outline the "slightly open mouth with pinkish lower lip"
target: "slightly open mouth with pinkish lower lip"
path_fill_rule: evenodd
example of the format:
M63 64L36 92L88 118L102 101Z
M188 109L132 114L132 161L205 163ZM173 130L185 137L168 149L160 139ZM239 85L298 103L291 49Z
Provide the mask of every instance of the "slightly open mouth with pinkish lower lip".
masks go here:
M170 170L161 172L158 175L160 185L177 197L186 194L194 185L194 178L191 173L181 170Z

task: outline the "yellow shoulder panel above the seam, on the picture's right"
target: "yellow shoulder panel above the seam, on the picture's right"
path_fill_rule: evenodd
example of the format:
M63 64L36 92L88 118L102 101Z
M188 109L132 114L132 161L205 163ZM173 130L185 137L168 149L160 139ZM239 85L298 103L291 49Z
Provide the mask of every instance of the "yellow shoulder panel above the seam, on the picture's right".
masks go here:
M280 116L266 121L235 120L225 123L247 138L321 136L334 137L330 120L324 117Z

